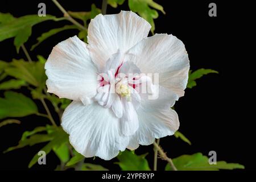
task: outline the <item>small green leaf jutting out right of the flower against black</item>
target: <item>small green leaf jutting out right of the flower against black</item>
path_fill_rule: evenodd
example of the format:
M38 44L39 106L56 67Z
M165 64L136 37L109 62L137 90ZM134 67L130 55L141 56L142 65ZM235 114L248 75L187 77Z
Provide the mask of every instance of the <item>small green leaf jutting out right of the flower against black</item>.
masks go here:
M218 73L218 72L212 69L204 69L204 68L197 69L194 72L189 71L187 88L191 89L193 88L193 86L196 86L195 80L209 73Z

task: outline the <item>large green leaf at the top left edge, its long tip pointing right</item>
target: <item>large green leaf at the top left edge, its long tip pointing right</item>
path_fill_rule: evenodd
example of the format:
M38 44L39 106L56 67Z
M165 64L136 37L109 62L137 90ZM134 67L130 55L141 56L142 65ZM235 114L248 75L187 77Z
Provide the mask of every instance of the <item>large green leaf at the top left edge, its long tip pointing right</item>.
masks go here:
M60 20L55 16L38 16L38 15L26 15L19 18L14 18L10 14L0 13L0 19L9 18L9 20L2 21L0 24L0 42L9 39L14 39L14 45L16 46L17 51L19 47L27 42L28 38L31 35L31 28L37 23L46 21L46 20Z

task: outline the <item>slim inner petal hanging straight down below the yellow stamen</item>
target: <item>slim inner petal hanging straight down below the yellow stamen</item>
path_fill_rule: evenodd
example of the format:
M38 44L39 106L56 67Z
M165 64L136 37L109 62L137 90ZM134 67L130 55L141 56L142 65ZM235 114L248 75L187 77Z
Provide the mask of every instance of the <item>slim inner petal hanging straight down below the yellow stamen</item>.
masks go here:
M122 97L122 104L123 117L121 118L121 131L123 135L130 136L138 130L138 116L132 102L127 101L125 97Z

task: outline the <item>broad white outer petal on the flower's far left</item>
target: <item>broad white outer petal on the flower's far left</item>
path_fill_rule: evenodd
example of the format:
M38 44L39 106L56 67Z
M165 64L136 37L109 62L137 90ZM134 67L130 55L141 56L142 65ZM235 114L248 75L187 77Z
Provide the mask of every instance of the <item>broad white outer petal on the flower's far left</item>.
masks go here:
M86 44L73 36L57 44L46 62L48 92L84 104L97 93L97 68Z

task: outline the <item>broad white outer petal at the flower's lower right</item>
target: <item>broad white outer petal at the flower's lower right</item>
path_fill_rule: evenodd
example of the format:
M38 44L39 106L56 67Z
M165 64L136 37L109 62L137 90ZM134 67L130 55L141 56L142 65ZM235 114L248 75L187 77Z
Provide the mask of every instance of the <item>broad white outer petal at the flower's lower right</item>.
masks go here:
M141 106L136 110L139 129L131 136L130 149L135 148L138 144L152 144L155 138L173 135L179 129L177 113L170 109L177 99L177 94L161 87L156 100L148 100L146 94L141 94Z

